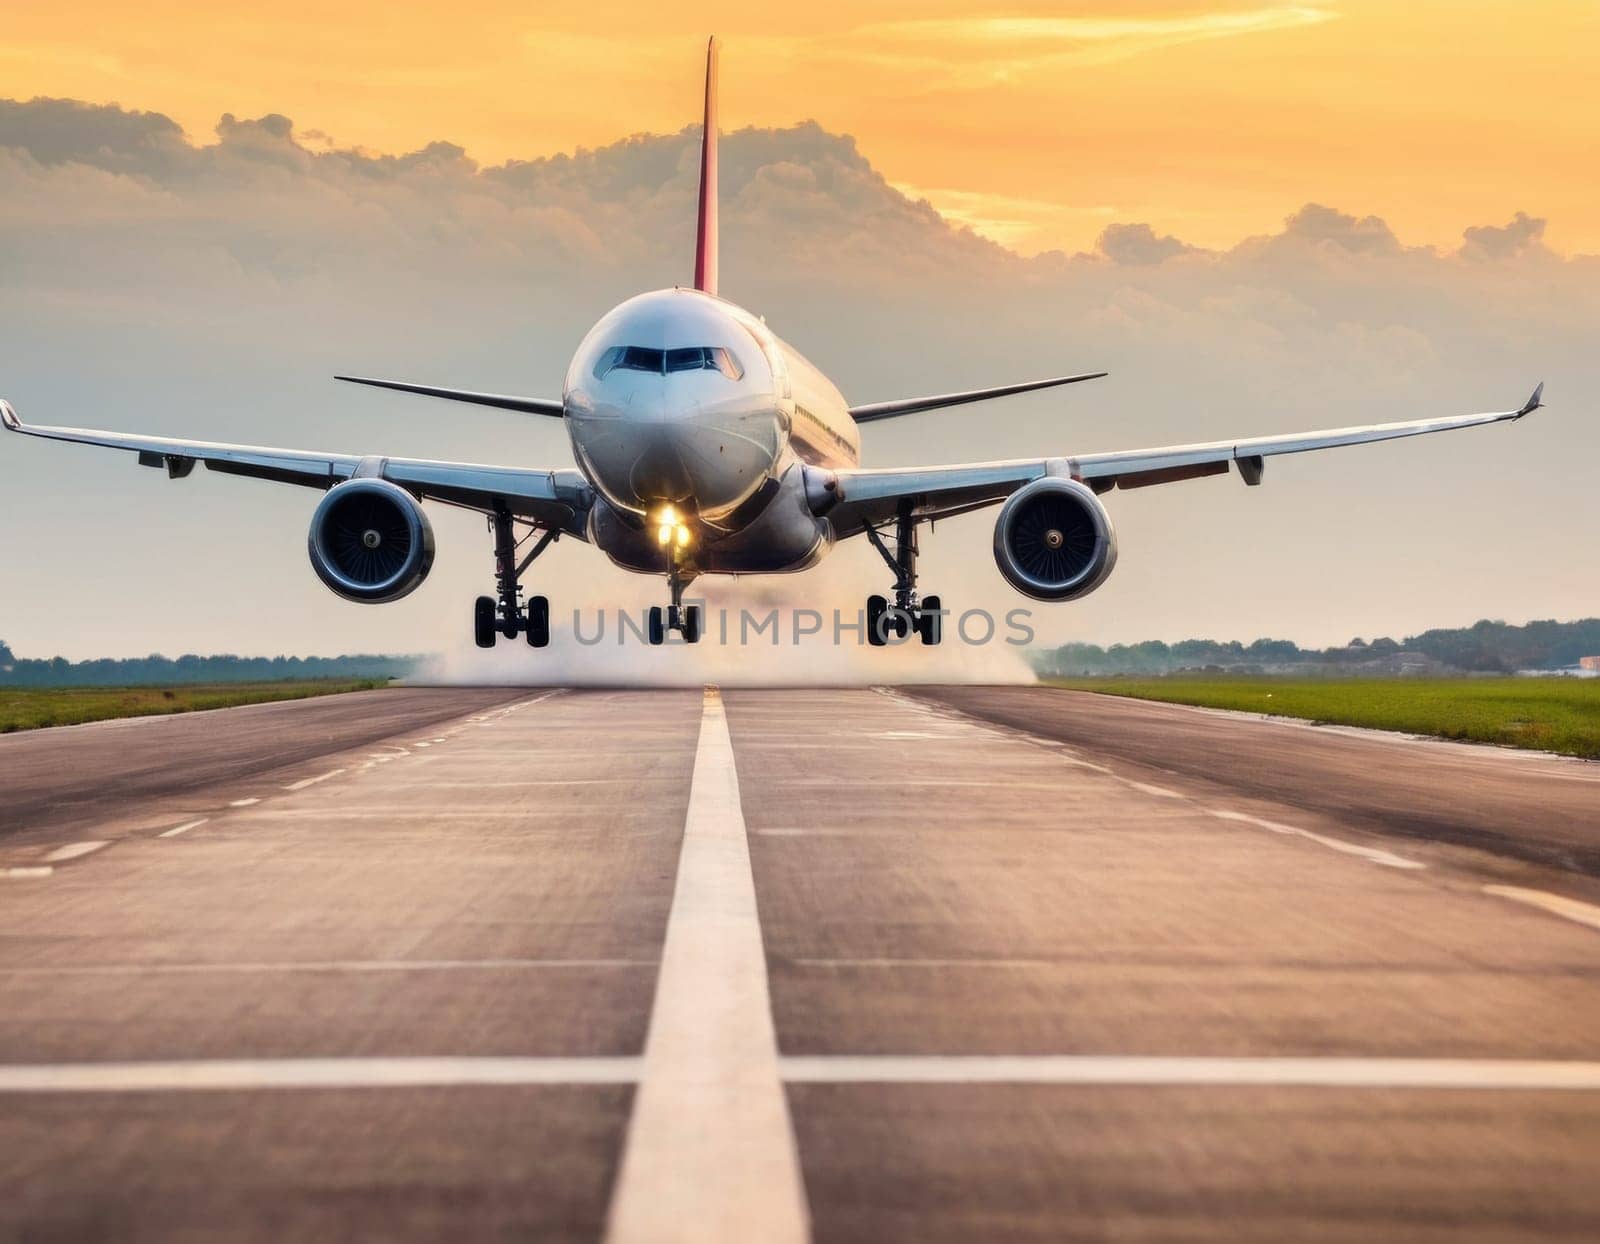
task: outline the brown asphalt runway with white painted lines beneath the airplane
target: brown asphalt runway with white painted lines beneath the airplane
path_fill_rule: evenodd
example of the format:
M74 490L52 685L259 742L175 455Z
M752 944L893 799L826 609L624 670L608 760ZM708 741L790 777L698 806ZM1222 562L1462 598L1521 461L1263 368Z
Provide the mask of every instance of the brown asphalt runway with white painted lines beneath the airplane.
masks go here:
M1597 766L330 704L0 739L0 1238L1600 1238Z

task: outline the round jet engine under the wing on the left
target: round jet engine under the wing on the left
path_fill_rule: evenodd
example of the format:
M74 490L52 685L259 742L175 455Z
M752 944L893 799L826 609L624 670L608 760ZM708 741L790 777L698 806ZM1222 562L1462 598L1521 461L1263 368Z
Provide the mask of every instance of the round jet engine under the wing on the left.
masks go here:
M434 528L387 480L334 484L310 518L310 564L328 590L363 604L414 592L434 568Z

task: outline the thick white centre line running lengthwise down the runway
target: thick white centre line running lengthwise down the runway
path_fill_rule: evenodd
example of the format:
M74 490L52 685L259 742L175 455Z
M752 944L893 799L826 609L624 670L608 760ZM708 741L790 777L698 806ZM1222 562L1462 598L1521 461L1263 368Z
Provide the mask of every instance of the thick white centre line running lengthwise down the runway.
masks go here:
M606 1239L810 1238L722 696L706 689L645 1068Z

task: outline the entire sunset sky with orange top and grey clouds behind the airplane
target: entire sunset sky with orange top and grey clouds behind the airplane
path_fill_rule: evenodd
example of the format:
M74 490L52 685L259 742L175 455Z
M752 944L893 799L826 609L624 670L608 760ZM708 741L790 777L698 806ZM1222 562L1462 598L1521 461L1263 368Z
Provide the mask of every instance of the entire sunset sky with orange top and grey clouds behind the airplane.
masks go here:
M874 401L1110 377L874 425L869 465L1518 405L1515 427L1112 494L1104 588L1042 641L1339 643L1600 612L1594 5L8 8L0 393L37 422L571 464L554 421L336 371L555 395L611 304L688 278L702 30L723 40L723 293ZM248 16L246 16L248 14ZM338 601L315 494L0 440L0 638L26 656L427 651L488 587ZM925 587L1027 604L992 515ZM859 542L856 542L859 544ZM562 542L562 608L653 603ZM882 590L869 548L718 588ZM765 595L763 595L765 593Z

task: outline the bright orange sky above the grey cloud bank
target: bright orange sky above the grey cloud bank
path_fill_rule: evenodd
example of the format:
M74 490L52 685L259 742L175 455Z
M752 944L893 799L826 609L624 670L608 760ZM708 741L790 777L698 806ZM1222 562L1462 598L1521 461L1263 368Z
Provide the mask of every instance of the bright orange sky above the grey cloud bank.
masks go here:
M154 109L195 138L283 112L341 146L443 138L498 161L682 128L714 30L723 128L816 118L1022 251L1114 219L1222 246L1309 200L1445 246L1525 209L1558 249L1600 251L1590 0L234 10L11 0L0 90Z

